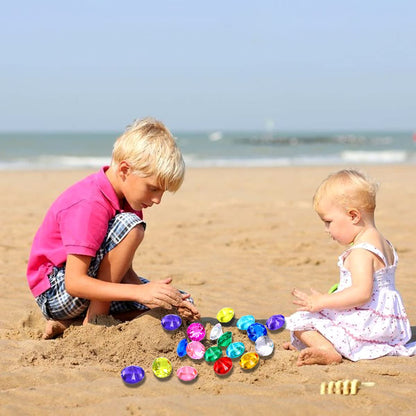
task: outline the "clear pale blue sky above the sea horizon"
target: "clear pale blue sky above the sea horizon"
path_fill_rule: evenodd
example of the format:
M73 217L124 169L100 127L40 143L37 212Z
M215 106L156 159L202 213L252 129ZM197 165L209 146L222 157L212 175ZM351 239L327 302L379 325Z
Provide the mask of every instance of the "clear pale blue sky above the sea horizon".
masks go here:
M13 0L0 131L415 130L414 0Z

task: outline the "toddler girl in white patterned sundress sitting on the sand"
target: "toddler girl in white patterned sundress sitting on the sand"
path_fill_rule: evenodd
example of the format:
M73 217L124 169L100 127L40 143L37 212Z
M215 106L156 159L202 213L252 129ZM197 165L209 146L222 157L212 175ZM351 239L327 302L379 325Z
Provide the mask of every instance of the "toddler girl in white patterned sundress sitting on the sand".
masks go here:
M405 345L411 328L395 287L397 253L374 222L376 191L360 172L342 170L314 195L325 230L348 248L338 260L335 292L292 292L299 308L286 320L291 343L284 348L301 350L298 365L416 354L416 343Z

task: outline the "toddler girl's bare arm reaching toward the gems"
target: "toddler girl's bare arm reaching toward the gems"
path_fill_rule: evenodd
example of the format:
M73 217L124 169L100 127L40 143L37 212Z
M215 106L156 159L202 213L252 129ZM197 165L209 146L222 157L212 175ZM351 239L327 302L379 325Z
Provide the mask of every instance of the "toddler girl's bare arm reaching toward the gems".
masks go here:
M320 293L311 289L307 294L300 290L292 291L295 296L294 304L298 310L318 312L322 309L349 309L366 304L371 299L373 290L375 256L365 249L355 249L350 252L345 267L351 272L350 287L332 294Z

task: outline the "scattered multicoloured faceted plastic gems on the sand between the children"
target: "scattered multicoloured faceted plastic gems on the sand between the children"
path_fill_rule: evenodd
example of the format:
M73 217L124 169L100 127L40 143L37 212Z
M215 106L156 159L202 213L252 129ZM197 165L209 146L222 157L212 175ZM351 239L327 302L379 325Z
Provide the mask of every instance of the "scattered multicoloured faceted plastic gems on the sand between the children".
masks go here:
M187 338L181 339L176 347L177 355L188 356L195 361L204 359L207 363L212 363L213 370L218 376L230 374L236 360L243 370L255 369L260 357L270 357L274 351L274 343L268 336L268 331L283 328L285 318L283 315L272 315L265 325L256 322L252 315L244 315L238 319L237 328L246 333L248 339L254 343L254 351L246 351L243 342L233 342L231 331L224 331L223 325L229 324L233 318L232 308L221 309L217 313L218 323L210 331L209 341L204 326L199 322L191 323L186 329ZM183 322L180 316L169 314L162 318L161 324L166 331L176 331ZM205 338L207 338L205 344L211 344L208 348L203 343ZM153 361L152 371L157 378L164 379L172 374L173 367L168 358L158 357ZM176 376L183 382L189 382L196 379L198 371L187 365L178 368ZM121 378L127 385L136 385L145 378L145 371L142 367L131 365L121 371Z

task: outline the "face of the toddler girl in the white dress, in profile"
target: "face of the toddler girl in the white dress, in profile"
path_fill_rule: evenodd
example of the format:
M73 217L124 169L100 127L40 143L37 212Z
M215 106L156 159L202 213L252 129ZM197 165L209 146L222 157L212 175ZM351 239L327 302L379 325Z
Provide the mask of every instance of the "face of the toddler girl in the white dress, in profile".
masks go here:
M341 245L351 244L358 234L354 224L354 215L347 212L345 208L324 198L319 203L317 213L324 222L325 231L331 238Z

